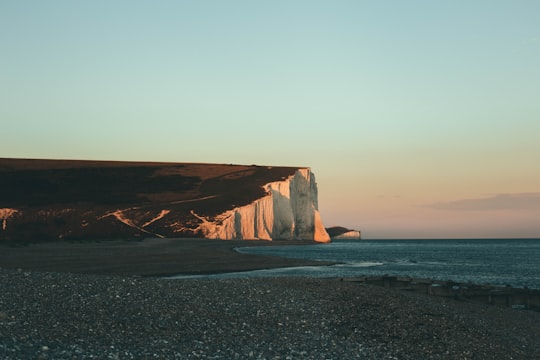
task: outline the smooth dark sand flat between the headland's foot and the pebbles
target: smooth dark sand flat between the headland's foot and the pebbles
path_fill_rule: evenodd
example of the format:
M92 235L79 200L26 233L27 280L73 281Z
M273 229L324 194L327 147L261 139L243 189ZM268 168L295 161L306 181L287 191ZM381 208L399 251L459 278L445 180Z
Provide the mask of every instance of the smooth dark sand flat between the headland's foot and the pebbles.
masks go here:
M327 263L240 254L235 247L313 244L290 241L145 239L0 246L0 267L48 272L160 276L213 274Z

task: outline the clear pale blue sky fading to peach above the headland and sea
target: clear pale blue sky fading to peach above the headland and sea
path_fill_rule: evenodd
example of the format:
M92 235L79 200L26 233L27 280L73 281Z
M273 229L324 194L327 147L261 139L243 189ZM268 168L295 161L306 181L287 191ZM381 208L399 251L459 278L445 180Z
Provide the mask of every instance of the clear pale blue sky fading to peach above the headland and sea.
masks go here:
M540 237L536 0L0 0L0 157L310 167L364 238Z

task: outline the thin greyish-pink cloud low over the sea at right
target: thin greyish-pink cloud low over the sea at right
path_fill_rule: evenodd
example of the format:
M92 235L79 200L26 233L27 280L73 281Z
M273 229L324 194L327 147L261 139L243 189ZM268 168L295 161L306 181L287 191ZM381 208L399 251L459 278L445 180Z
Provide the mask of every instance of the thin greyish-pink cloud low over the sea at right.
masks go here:
M540 211L540 192L519 194L496 194L485 198L462 199L427 204L426 207L438 210L524 210Z

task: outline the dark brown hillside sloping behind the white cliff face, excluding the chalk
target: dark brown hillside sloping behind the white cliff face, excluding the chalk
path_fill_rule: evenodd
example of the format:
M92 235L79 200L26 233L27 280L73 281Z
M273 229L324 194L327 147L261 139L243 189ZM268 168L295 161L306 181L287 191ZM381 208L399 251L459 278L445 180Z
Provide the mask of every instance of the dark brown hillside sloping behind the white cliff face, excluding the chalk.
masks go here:
M200 217L247 205L297 169L0 159L0 240L196 237Z

